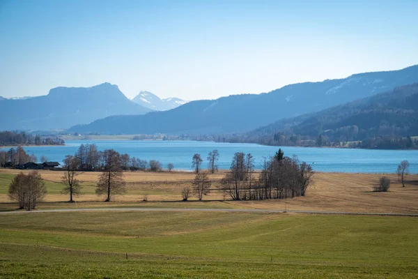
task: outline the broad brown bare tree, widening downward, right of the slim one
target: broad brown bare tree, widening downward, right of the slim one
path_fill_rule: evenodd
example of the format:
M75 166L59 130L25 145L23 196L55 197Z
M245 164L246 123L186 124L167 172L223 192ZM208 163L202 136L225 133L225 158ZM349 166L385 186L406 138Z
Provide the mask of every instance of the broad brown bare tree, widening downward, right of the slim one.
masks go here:
M103 155L104 171L99 176L95 193L98 195L107 195L105 202L110 202L111 197L114 195L123 195L126 193L126 184L125 180L123 180L119 153L113 149L108 149L104 151Z

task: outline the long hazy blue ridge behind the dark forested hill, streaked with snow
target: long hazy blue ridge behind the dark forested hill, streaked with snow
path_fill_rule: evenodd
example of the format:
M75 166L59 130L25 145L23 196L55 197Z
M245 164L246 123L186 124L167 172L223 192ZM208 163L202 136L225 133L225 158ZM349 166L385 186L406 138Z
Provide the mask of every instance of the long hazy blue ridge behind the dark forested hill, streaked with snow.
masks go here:
M103 134L242 132L415 82L418 82L418 65L402 70L360 73L339 80L290 84L269 93L192 101L167 112L111 116L72 127L70 131Z

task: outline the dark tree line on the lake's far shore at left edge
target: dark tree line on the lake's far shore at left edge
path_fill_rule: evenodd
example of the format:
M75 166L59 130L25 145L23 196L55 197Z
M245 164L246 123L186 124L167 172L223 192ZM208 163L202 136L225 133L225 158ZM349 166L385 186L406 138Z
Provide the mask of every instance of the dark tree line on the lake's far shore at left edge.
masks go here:
M25 132L0 132L0 146L5 145L63 145L64 141L59 137L41 137Z

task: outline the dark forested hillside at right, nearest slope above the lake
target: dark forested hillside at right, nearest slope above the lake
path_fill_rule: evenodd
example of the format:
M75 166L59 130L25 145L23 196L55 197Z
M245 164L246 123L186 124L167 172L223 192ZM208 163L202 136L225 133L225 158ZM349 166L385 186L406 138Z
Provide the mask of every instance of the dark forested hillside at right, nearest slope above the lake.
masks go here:
M274 144L274 135L326 135L332 142L380 136L418 135L418 83L362 98L320 112L283 119L247 133ZM278 140L278 139L277 139Z

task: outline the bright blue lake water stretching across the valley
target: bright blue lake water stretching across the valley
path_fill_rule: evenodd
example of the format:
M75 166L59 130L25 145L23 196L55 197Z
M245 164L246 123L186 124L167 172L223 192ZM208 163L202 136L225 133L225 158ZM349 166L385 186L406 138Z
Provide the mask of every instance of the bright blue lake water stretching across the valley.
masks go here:
M229 169L235 152L251 153L256 168L261 168L263 156L273 156L279 146L258 144L229 144L219 142L193 141L134 141L134 140L67 140L65 146L28 146L27 153L34 153L38 159L45 155L48 160L62 162L65 155L74 154L80 144L96 144L99 150L115 149L149 161L159 160L164 167L173 163L175 169L192 169L192 156L201 154L203 166L210 151L219 151L219 169ZM316 171L320 172L363 172L394 173L401 160L408 160L410 172L418 173L418 151L407 150L366 150L366 149L327 149L304 147L281 147L285 156L296 155ZM3 149L4 150L4 149Z

